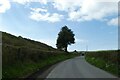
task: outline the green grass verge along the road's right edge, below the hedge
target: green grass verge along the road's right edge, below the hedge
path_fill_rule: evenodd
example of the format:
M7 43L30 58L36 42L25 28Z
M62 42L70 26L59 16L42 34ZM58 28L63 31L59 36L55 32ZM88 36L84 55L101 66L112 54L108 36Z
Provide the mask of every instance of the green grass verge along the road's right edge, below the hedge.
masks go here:
M90 64L103 69L115 76L119 76L118 75L118 64L117 63L111 63L109 61L105 61L103 59L100 58L95 58L95 57L85 57L86 61L89 62ZM120 77L120 76L119 76Z

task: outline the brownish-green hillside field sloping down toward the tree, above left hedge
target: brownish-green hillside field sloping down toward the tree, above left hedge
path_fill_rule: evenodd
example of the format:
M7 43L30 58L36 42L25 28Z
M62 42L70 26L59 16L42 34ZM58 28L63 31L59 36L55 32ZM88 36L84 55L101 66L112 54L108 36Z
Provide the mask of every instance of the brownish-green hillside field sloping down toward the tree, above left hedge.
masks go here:
M31 39L23 38L21 36L14 36L6 32L2 32L3 45L11 45L16 47L28 47L34 49L40 49L45 51L54 51L55 48L48 46L47 44L34 41Z

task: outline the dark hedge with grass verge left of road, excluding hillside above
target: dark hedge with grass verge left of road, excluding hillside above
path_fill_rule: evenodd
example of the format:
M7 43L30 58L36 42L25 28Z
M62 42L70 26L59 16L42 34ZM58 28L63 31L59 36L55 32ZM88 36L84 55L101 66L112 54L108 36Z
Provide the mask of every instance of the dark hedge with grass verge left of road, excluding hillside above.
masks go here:
M77 55L56 51L3 46L3 78L18 78ZM19 53L18 53L19 52Z

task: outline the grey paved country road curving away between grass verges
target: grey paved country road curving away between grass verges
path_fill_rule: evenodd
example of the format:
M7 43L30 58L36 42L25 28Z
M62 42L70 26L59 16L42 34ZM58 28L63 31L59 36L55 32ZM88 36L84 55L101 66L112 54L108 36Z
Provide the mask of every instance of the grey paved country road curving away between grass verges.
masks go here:
M117 78L89 63L84 56L59 63L47 78Z

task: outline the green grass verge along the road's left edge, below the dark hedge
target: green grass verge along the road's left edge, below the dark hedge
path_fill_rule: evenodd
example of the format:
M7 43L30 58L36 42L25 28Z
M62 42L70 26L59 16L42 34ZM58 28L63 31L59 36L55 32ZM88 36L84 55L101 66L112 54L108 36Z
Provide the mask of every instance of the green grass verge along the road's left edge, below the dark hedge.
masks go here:
M57 62L73 58L77 55L73 54L59 54L57 56L49 57L47 59L39 60L37 62L26 61L17 62L16 64L6 65L3 67L3 79L4 78L24 78L28 75L42 69L45 66L55 64Z

